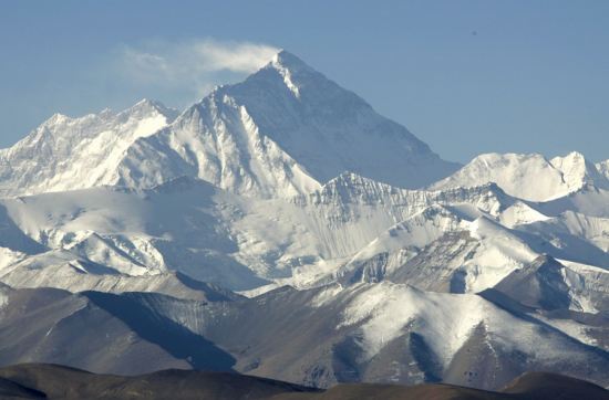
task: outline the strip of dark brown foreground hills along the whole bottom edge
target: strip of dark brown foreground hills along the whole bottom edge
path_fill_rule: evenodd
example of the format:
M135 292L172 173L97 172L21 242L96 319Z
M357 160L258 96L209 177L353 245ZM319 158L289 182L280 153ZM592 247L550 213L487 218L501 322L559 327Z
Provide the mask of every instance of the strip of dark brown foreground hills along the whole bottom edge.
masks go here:
M216 371L163 370L136 377L94 375L56 365L18 365L0 369L2 399L132 400L603 400L596 385L547 372L527 373L498 392L450 385L414 387L340 383L330 390Z

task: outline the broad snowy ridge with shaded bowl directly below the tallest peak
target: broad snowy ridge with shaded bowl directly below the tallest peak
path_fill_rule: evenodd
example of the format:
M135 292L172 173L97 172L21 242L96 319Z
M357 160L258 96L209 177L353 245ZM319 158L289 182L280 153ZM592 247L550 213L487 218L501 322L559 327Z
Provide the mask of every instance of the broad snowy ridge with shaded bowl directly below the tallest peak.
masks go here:
M493 186L425 193L349 178L361 186L336 186L339 179L321 192L286 200L252 200L182 177L148 191L93 188L2 203L14 231L39 246L63 249L121 273L179 270L250 290L267 280L310 282L430 204L455 204L451 212L462 218L478 210L465 211L468 202L496 212L513 201ZM426 223L425 215L413 223Z

